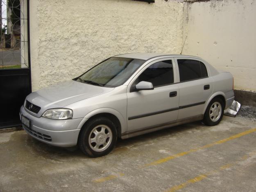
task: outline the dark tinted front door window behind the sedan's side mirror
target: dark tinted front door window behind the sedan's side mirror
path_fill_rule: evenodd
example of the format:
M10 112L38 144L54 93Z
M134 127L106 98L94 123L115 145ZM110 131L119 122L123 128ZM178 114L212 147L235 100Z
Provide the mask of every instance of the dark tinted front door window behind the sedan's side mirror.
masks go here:
M148 81L154 87L164 86L173 83L172 60L159 61L149 66L138 77L138 81Z

